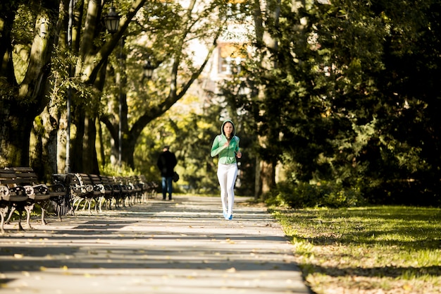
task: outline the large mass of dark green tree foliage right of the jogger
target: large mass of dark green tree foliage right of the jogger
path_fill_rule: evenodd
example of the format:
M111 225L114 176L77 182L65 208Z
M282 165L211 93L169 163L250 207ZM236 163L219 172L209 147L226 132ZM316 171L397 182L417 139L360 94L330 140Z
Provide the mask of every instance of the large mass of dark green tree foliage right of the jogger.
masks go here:
M441 184L439 1L294 3L282 1L278 21L266 15L277 48L243 71L263 94L236 97L269 138L259 153L294 183L337 183L385 203L410 182L406 203L417 192L415 203L438 204L428 200Z

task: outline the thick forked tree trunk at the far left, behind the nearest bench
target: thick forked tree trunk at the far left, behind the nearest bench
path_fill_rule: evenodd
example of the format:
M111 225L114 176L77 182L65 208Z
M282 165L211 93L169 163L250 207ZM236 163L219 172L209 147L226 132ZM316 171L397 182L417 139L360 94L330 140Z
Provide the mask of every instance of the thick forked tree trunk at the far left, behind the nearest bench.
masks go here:
M13 7L13 6L11 6ZM15 15L15 11L2 13ZM13 9L13 8L11 8ZM31 40L29 62L23 80L16 80L11 47L12 23L6 23L0 33L0 160L3 166L30 166L30 134L35 117L40 114L45 99L46 80L50 72L54 44L54 24L58 20L58 1L45 1L36 12L34 37ZM6 18L13 22L13 18ZM19 44L20 45L20 44Z

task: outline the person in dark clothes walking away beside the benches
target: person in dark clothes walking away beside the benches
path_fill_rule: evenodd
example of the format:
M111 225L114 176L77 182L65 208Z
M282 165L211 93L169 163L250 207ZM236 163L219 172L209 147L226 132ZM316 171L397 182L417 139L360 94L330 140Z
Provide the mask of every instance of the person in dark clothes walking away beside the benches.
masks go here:
M168 200L171 200L172 192L173 192L173 174L175 173L175 166L178 164L176 160L175 154L170 152L170 147L166 146L163 149L163 152L158 158L158 162L156 165L161 171L162 177L162 199L166 200L167 192L168 192Z

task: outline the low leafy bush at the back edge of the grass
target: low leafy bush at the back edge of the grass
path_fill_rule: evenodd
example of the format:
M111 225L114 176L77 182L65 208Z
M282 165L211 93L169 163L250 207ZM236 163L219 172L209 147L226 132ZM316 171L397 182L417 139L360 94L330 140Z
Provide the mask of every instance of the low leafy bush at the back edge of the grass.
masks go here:
M304 207L354 207L364 204L358 188L344 188L337 183L278 183L266 201L267 204Z

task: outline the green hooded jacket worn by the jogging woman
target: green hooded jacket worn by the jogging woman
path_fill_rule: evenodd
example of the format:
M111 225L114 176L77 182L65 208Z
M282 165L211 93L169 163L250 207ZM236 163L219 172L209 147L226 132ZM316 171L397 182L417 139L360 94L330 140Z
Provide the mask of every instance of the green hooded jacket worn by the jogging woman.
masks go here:
M232 139L230 140L230 145L224 147L225 142L228 142L225 133L223 132L223 126L225 123L232 124ZM219 156L219 164L235 164L236 163L236 153L239 151L239 137L236 136L236 127L232 121L227 120L222 123L221 135L217 135L213 140L213 145L211 146L211 157Z

